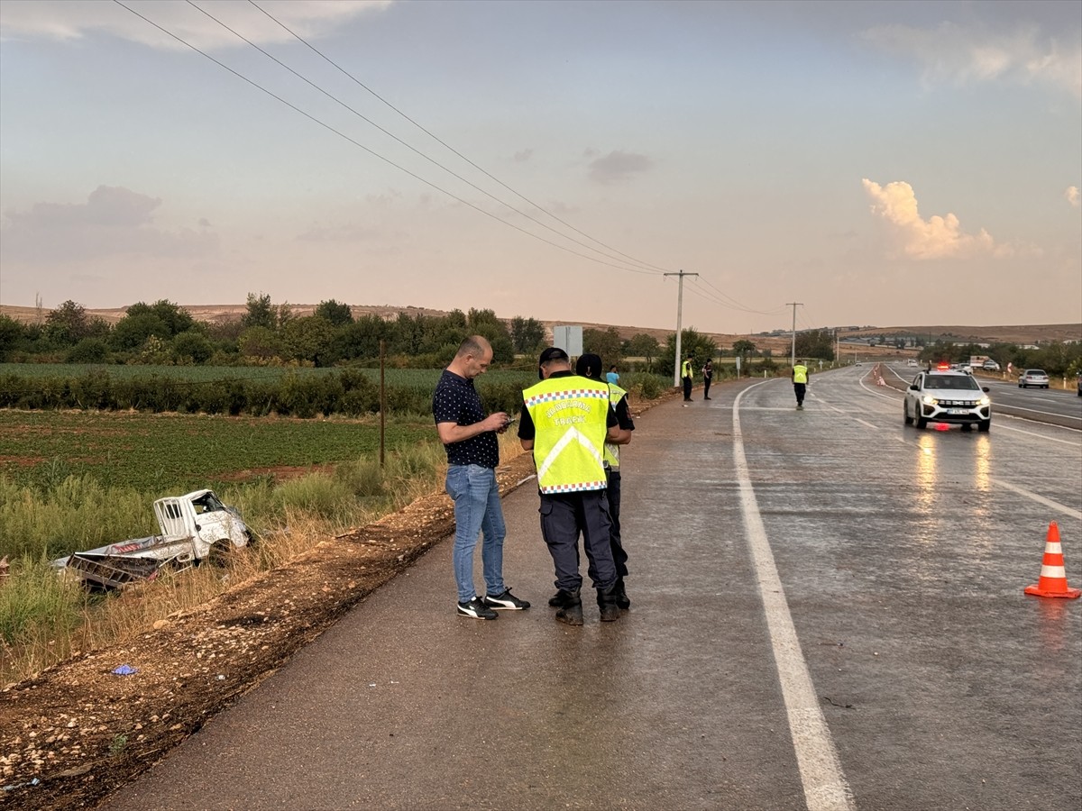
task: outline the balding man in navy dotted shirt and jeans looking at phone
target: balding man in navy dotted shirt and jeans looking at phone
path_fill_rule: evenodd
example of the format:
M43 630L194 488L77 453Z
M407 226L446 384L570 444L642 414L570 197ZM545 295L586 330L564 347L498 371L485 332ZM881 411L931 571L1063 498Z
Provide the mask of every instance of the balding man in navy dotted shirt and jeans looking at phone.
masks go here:
M447 451L447 494L454 502L454 580L459 589L458 613L477 620L496 620L496 610L528 609L503 583L503 506L496 468L500 443L511 424L506 413L485 416L474 378L488 371L492 346L480 335L462 342L458 354L444 370L432 396L432 414L439 441ZM484 597L474 588L474 548L484 535L481 562ZM496 609L496 610L493 610Z

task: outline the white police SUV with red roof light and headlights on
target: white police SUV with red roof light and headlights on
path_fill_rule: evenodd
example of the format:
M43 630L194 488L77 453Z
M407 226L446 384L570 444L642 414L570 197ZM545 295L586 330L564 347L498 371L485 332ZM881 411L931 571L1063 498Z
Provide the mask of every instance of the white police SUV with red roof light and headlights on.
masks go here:
M992 401L988 387L966 372L947 363L921 372L906 389L902 413L906 425L918 428L928 423L952 423L962 430L988 430L992 426Z

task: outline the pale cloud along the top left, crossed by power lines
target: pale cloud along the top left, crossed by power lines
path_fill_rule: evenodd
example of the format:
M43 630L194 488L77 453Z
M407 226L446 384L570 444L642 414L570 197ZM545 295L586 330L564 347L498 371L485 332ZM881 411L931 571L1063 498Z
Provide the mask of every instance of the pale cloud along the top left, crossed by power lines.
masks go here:
M260 8L305 39L317 39L340 23L364 13L379 12L394 0L261 0ZM187 3L126 2L201 50L246 45L233 34ZM208 12L259 44L294 41L293 36L245 0L200 3ZM186 48L117 3L100 0L3 0L0 2L0 39L78 40L94 34L140 42L150 48Z

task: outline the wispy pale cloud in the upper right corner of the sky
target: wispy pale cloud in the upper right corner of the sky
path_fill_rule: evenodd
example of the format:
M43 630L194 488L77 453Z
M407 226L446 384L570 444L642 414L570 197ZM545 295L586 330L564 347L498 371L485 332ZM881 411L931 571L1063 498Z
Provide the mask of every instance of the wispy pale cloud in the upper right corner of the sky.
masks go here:
M861 36L887 52L913 58L929 84L1041 82L1082 98L1082 44L1076 37L1045 37L1035 26L1001 34L954 23L936 28L878 26Z

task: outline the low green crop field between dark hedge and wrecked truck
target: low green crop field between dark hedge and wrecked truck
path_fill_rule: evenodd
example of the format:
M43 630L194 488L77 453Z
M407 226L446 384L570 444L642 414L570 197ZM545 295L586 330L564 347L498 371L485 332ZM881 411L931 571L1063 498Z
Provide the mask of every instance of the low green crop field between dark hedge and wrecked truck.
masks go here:
M375 418L0 411L0 475L35 488L90 475L106 487L175 494L274 467L370 457L379 441ZM431 421L387 423L388 451L436 442Z

